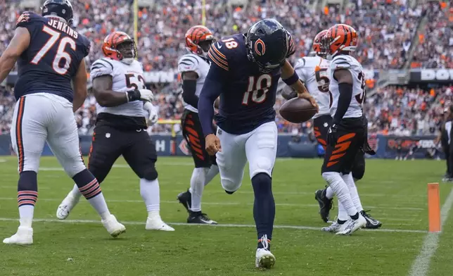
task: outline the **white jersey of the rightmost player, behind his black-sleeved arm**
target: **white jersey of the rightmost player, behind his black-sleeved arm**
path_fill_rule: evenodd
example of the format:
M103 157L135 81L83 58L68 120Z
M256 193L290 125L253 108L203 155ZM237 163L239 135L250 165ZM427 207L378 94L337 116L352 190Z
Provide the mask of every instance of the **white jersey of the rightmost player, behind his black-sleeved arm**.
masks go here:
M338 55L331 61L330 84L328 90L331 93L331 115L335 115L338 107L338 82L333 73L338 69L349 70L352 74L352 99L343 118L362 117L362 103L365 98L365 75L362 72L362 65L352 56Z

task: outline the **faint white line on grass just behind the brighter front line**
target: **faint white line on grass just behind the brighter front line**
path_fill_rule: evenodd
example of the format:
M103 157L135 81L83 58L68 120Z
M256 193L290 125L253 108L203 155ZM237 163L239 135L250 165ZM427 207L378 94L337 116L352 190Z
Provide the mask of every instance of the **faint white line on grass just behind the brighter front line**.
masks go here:
M15 197L0 197L1 200L18 200ZM38 199L38 201L62 201L62 199ZM141 200L119 200L119 199L106 199L107 202L122 202L122 203L143 203ZM160 201L160 203L177 203L178 201ZM253 205L253 203L242 203L242 202L203 202L204 205L228 205L228 206L241 206L241 205ZM318 204L298 204L298 203L275 203L275 206L295 206L295 207L319 207ZM405 207L388 207L388 206L366 206L366 208L372 209L388 209L388 210L407 210L407 211L423 211L424 208L405 208Z

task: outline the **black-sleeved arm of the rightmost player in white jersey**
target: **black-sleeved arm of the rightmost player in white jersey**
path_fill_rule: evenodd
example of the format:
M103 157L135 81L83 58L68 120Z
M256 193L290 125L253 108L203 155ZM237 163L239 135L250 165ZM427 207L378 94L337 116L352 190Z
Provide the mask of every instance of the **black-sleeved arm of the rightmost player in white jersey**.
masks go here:
M338 81L338 91L340 92L340 95L338 96L337 111L335 115L333 115L333 123L338 125L351 103L352 74L350 73L350 70L337 69L333 72L333 77Z

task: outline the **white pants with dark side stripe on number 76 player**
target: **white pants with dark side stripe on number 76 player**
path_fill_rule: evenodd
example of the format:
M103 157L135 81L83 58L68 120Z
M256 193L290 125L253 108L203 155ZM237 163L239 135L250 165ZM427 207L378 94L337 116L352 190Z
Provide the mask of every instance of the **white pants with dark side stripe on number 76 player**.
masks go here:
M48 93L21 97L15 104L11 125L11 142L18 156L19 172L38 172L46 141L70 177L85 169L72 103Z

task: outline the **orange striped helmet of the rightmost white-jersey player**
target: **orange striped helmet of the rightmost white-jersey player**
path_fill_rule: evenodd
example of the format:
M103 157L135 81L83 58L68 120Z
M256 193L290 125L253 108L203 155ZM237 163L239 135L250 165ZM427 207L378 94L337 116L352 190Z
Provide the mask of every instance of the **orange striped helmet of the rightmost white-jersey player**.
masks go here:
M323 38L327 54L335 56L340 51L355 51L359 35L350 25L337 24L327 30Z

